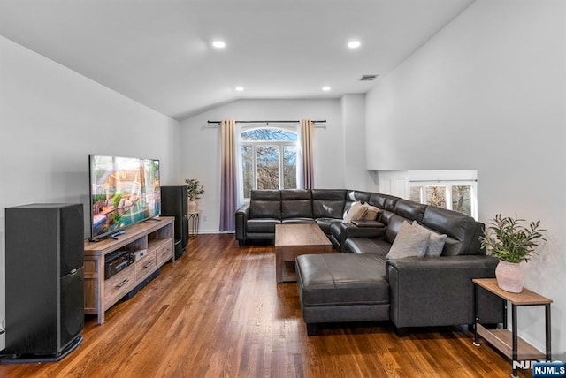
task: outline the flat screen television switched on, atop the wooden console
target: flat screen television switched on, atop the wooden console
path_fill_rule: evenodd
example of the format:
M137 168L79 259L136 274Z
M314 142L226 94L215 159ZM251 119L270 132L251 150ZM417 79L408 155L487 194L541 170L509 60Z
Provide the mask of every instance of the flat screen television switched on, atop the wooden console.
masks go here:
M88 155L88 167L90 240L160 215L159 160Z

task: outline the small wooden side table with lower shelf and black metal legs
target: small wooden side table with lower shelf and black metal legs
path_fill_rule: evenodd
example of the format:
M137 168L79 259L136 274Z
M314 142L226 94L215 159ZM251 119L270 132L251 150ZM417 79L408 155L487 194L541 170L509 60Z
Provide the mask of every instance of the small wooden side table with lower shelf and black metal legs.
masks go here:
M550 304L551 299L547 299L536 292L523 289L520 293L513 293L501 290L495 278L477 278L472 280L474 285L475 300L475 332L474 344L479 346L479 336L482 336L489 344L498 349L511 359L511 376L517 376L516 363L524 360L545 359L551 360L550 342ZM480 324L479 319L479 287L490 291L496 296L504 299L504 318L503 328L505 329L486 329ZM511 303L511 330L507 329L507 302ZM546 353L540 352L531 344L525 342L517 336L516 329L516 307L518 306L545 306L545 330L546 330Z

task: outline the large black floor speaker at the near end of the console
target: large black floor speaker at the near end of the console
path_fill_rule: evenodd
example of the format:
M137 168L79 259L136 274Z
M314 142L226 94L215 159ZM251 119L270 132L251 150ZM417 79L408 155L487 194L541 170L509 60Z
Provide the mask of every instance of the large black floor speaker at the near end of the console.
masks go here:
M5 209L6 358L55 361L82 340L82 204Z

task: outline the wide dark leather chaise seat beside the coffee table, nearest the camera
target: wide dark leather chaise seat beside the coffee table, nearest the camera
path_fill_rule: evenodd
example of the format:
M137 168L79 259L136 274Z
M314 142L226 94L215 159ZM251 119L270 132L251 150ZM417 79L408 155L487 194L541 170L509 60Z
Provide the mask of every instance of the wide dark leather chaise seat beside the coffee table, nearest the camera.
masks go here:
M296 259L303 306L389 303L386 264L371 254L302 254Z

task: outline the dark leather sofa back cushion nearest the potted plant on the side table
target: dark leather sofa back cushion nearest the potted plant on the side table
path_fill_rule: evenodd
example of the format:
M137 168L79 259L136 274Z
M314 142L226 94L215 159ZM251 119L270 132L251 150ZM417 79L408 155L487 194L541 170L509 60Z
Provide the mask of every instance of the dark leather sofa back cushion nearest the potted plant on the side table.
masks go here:
M423 225L429 229L446 234L443 256L456 256L460 254L478 254L478 251L470 251L478 223L469 215L427 206L424 210Z

